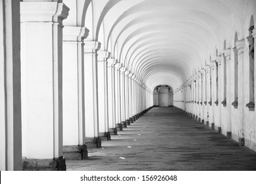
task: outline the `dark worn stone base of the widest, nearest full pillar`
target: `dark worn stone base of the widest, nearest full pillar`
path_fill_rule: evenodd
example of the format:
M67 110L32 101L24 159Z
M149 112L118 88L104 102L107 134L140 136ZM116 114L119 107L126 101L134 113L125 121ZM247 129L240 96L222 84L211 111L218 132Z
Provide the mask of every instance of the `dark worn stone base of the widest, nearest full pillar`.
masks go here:
M63 156L54 159L23 159L23 171L66 171L66 160Z

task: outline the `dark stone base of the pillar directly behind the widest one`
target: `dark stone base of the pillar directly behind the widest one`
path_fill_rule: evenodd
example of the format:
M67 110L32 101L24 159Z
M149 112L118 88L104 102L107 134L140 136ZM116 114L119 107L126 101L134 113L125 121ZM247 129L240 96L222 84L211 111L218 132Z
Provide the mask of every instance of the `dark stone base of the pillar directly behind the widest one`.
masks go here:
M63 156L66 160L85 160L88 158L86 145L71 145L63 147Z

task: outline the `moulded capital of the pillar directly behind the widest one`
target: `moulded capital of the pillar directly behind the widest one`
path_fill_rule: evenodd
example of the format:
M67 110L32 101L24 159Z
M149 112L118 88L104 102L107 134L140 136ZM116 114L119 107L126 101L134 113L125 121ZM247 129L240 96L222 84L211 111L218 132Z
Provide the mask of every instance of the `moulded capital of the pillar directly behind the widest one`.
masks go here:
M64 26L63 41L83 41L89 35L89 30L86 27L80 26Z

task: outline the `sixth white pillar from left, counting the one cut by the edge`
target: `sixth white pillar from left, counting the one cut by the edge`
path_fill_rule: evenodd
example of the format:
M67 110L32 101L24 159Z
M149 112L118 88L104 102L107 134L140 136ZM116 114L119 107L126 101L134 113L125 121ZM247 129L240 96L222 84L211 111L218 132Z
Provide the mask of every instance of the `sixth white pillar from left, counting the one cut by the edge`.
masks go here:
M109 58L107 63L108 80L108 104L109 104L109 131L115 133L116 112L115 112L115 62L114 58Z

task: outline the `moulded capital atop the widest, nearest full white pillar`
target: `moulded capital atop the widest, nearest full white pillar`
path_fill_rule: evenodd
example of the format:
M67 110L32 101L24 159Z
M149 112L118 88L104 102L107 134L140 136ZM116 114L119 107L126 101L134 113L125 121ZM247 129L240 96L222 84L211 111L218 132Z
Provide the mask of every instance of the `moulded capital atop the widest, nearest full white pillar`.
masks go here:
M57 2L20 2L20 22L59 22L68 17L69 8Z

